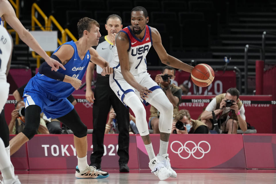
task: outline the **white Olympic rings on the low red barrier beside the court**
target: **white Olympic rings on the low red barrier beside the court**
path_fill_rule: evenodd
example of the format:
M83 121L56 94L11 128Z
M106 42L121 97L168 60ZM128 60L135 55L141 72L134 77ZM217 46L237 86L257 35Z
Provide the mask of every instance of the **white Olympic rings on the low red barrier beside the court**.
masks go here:
M179 147L179 149L177 150L177 152L176 152L175 150L173 150L173 144L174 144L174 143L179 143L179 144L181 145L181 147ZM188 147L186 147L187 143L193 143L194 147L192 148L192 150L190 150ZM206 152L203 150L202 147L200 147L200 144L201 144L201 143L206 143L206 144L208 145L209 149L208 149ZM184 146L183 146L183 144L182 144L181 142L179 142L179 141L173 141L173 142L170 144L170 149L171 149L174 153L178 154L179 157L182 158L182 159L188 159L188 158L190 158L191 155L192 155L194 158L196 158L196 159L201 159L201 158L204 157L204 154L210 152L211 146L210 146L210 144L209 144L207 141L200 141L200 142L198 143L198 145L196 145L196 143L193 142L193 141L187 141L187 142L185 142ZM183 157L183 156L180 155L180 153L183 151L183 149L189 154L187 157ZM201 156L201 157L196 157L196 156L194 155L194 153L195 153L197 150L198 150L200 153L202 153L202 156Z

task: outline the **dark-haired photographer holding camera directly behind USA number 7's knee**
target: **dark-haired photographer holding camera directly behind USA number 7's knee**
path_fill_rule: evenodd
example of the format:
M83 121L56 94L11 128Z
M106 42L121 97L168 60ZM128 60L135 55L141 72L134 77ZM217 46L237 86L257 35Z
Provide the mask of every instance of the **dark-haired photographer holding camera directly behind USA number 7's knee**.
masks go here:
M173 104L173 117L178 112L178 105L181 100L182 89L173 84L175 79L175 68L165 66L162 74L157 74L155 82L162 88L170 103ZM150 107L149 127L153 129L153 133L160 133L159 131L159 116L160 112L154 107Z

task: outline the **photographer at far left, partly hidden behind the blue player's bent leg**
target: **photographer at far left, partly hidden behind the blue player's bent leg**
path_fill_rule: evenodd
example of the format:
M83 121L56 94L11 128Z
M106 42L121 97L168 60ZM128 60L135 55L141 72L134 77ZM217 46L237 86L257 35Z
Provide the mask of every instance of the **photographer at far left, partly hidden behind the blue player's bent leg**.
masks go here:
M25 103L23 100L15 104L15 109L11 112L11 121L9 122L9 134L18 134L25 127ZM49 134L45 121L40 118L40 125L37 134Z

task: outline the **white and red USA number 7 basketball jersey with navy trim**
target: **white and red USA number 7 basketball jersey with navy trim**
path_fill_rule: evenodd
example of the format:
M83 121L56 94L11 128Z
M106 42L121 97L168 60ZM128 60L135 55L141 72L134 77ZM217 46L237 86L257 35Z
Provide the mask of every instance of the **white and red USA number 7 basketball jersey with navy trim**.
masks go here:
M129 70L133 76L139 75L147 71L147 61L146 55L152 46L152 32L150 27L146 25L145 35L142 40L138 39L132 32L131 28L128 26L122 29L120 32L127 34L129 39ZM117 47L115 47L113 60L110 63L110 66L114 68L114 74L121 73L121 68L119 64L119 57L117 52ZM118 73L119 72L119 73ZM116 75L115 78L117 78Z

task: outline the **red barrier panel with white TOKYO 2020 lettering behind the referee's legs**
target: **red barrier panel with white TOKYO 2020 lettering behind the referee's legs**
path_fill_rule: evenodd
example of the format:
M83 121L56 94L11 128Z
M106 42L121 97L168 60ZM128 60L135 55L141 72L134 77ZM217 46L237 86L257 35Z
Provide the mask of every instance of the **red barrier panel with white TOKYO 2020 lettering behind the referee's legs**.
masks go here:
M90 154L93 151L92 134L87 135L87 163L90 164ZM130 135L129 163L131 169L139 168L135 135ZM102 168L119 168L118 134L105 135L104 156ZM28 141L28 156L30 170L37 169L74 169L77 165L76 150L73 135L35 135Z

